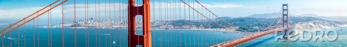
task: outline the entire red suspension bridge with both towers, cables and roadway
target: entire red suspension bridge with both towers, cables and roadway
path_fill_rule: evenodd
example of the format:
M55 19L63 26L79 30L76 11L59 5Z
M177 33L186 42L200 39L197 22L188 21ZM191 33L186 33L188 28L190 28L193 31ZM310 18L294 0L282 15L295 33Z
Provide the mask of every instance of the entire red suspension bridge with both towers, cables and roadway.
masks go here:
M74 46L66 46L64 43L68 43L66 41L64 41L64 37L66 37L64 34L64 32L66 32L67 30L64 30L64 19L66 19L64 14L64 3L66 3L66 1L73 1L73 24L74 27L72 27L74 30ZM77 0L56 0L53 3L43 7L42 9L39 9L38 11L24 17L23 19L20 19L16 22L14 22L13 24L10 24L4 28L2 28L0 30L1 34L1 42L2 42L2 47L6 47L5 45L3 45L4 43L4 36L10 36L9 38L16 38L16 37L12 37L12 31L18 29L18 28L25 28L25 25L28 22L33 22L33 34L26 34L25 30L24 31L17 31L17 39L19 42L20 39L20 35L24 35L24 46L21 46L18 43L18 47L40 47L40 46L44 46L44 47L54 47L52 46L52 44L58 44L58 43L53 43L53 41L57 40L57 39L52 39L55 38L54 36L52 36L52 29L47 30L48 34L47 34L47 38L44 38L44 40L47 41L41 41L41 39L43 38L39 38L39 35L43 35L43 34L39 34L38 32L44 32L39 30L39 17L40 16L44 16L44 14L47 14L47 20L48 21L48 25L50 26L49 28L52 28L52 10L57 8L57 7L61 7L61 46L62 47L170 47L170 46L174 46L174 47L203 47L203 46L195 46L198 43L201 42L205 42L205 41L199 41L197 39L195 39L196 34L194 33L200 33L199 31L201 29L195 28L195 27L189 27L188 30L197 30L197 31L189 31L189 32L193 32L193 36L189 36L189 38L194 38L193 40L189 40L189 41L194 41L193 43L191 42L184 42L187 43L188 45L192 45L193 46L186 46L186 45L182 45L182 44L174 44L173 42L163 42L163 40L161 41L156 41L156 37L153 36L159 36L159 39L162 39L163 37L173 37L173 36L168 36L167 34L162 34L162 32L160 32L161 34L159 35L153 35L153 33L151 33L151 30L153 30L153 26L151 25L151 22L154 21L170 21L170 20L191 20L192 22L195 22L196 20L204 20L204 21L210 21L212 23L214 23L215 25L217 25L218 27L222 28L222 29L217 29L217 30L225 30L225 31L230 31L230 32L237 32L239 34L248 34L248 31L246 30L242 30L237 28L237 26L232 25L230 22L227 22L226 20L224 20L223 18L219 17L217 14L213 13L210 9L208 9L206 6L204 6L204 4L200 3L198 0L104 0L104 4L100 4L100 0L78 0L78 1L84 1L84 19L86 21L89 21L88 18L91 18L93 16L95 16L94 18L97 19L97 21L101 21L101 16L105 16L104 19L109 19L112 20L112 16L114 16L114 20L116 21L116 17L119 18L118 21L121 20L125 20L127 19L127 27L125 27L124 29L127 29L127 31L119 31L119 32L127 32L127 41L125 40L121 40L123 42L121 43L115 43L115 41L113 43L108 43L106 42L106 40L110 40L112 41L112 36L117 36L117 35L110 35L110 36L105 36L105 40L102 40L101 36L101 31L102 30L108 30L108 29L100 29L100 28L96 28L97 31L89 31L92 28L87 26L86 30L85 30L85 41L81 41L81 42L85 42L84 45L77 45L79 43L78 40L80 40L81 38L78 38L77 36L81 36L81 35L77 35L77 34L81 34L77 32L77 20L76 18L81 18L81 17L77 17L77 13L76 13L76 1ZM95 1L95 2L89 2L89 1ZM116 2L118 1L118 3L126 3L128 4L127 8L123 8L123 6L121 6L121 4L119 4L118 6L116 6ZM155 2L158 1L158 2ZM95 3L95 7L93 9L93 7L90 7L92 5L89 5L89 3ZM112 4L113 3L113 4ZM159 3L159 5L151 5L154 3ZM102 8L102 6L105 6L104 8ZM154 7L159 7L159 9L152 9ZM127 11L118 11L119 13L116 13L116 8L119 9L127 9ZM89 10L95 10L95 12L89 11ZM105 9L105 13L101 13L101 9ZM109 11L108 11L108 10ZM111 11L111 10L114 11ZM285 31L283 34L283 38L284 39L289 39L288 35L289 35L289 29L293 28L293 26L289 25L289 10L288 10L288 4L283 4L282 7L282 27L278 27L278 24L281 23L279 22L280 20L278 19L274 19L272 21L272 24L269 25L266 29L260 31L260 32L255 32L249 35L245 35L245 36L240 36L239 38L233 39L233 40L223 40L223 42L219 42L217 39L207 39L207 38L203 38L204 40L208 40L207 42L216 42L214 44L208 44L205 46L210 46L210 47L235 47L235 46L239 46L242 45L244 43L250 42L252 40L255 40L257 38L278 32L278 31ZM95 15L90 16L90 13L94 13ZM127 14L125 14L127 13ZM101 14L105 14L105 15L101 15ZM127 16L124 16L127 15ZM279 15L279 16L281 16ZM127 18L126 18L127 17ZM45 18L45 17L42 17ZM216 22L216 20L214 20L213 18L218 18L219 20L223 21L223 23L226 23L227 25L222 25L222 23L218 23ZM37 20L35 23L35 20ZM40 19L43 20L43 19ZM188 25L194 25L192 24L192 22L189 22ZM142 35L137 34L137 28L138 27L138 23L140 23L142 28ZM275 24L273 24L275 23ZM87 25L89 25L90 23L87 22ZM24 25L24 26L23 26ZM36 26L37 25L37 26ZM121 25L121 24L119 24ZM161 25L165 25L165 24L161 24ZM270 26L274 26L274 27L270 27ZM96 27L101 27L101 26L96 26ZM36 29L35 29L36 28ZM159 29L164 29L159 27ZM183 30L183 29L178 29L178 30ZM203 29L203 30L214 30L214 29ZM37 33L36 33L36 32ZM20 34L20 32L24 32L24 34ZM46 31L45 31L46 32ZM90 32L95 32L96 36L95 38L90 38L90 35L94 35L94 34L90 34ZM113 31L111 31L113 32ZM110 33L111 33L110 32ZM138 31L139 32L139 31ZM36 34L35 34L36 33ZM82 33L83 34L83 33ZM117 34L121 34L121 33L117 33ZM210 34L217 34L216 33L210 33ZM32 36L33 38L32 41L33 45L30 46L26 46L26 44L28 44L29 42L26 42L25 40L27 39L27 36ZM212 36L212 35L211 35ZM23 37L23 36L22 36ZM67 36L67 37L71 37L71 36ZM107 37L109 37L109 39L107 39ZM185 37L185 36L184 36ZM203 37L203 36L201 36ZM95 40L94 40L95 39ZM154 40L153 40L154 39ZM175 40L175 39L173 39ZM176 39L177 41L180 41L182 39ZM105 41L106 43L101 43ZM164 41L168 41L168 40L164 40ZM184 41L186 41L186 39L184 39ZM10 41L12 42L12 40ZM40 43L47 43L47 45L43 45ZM157 43L156 43L157 42ZM95 43L95 44L91 44L91 43ZM179 42L182 43L182 42ZM119 46L116 46L115 44L122 44ZM127 45L125 45L127 44ZM95 46L91 46L91 45L95 45ZM163 46L163 45L169 45L169 46ZM9 47L12 47L12 43L10 43Z

